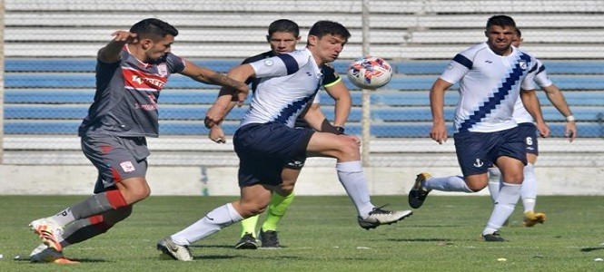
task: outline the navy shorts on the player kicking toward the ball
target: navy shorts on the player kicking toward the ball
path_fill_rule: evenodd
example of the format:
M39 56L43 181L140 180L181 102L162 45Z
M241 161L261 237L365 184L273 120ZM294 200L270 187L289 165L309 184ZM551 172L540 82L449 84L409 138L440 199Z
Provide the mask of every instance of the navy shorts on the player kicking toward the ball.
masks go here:
M312 133L276 122L251 123L239 128L233 135L239 157L239 186L281 184L281 173L287 163L306 157Z

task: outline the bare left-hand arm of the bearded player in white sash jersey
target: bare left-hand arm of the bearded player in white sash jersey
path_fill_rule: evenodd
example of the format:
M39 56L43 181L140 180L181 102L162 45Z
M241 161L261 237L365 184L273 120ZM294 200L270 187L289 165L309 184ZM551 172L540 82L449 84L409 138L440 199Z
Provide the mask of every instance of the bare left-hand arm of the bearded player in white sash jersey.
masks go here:
M432 129L430 138L442 144L447 141L447 124L444 118L444 96L445 91L451 88L453 84L437 79L430 90L430 108L432 112Z

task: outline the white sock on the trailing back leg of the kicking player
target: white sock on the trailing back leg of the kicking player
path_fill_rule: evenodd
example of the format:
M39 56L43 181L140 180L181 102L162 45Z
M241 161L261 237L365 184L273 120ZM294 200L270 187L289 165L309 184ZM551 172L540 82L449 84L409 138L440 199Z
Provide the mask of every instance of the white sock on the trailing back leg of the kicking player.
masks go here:
M173 234L171 238L174 243L187 246L241 220L243 218L233 208L233 204L227 203L208 212L203 219Z

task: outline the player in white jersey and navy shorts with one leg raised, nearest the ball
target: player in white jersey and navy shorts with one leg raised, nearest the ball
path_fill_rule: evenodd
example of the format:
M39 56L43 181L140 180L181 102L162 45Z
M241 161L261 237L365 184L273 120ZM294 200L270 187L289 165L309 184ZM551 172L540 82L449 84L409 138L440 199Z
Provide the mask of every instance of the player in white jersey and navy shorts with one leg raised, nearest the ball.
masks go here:
M350 36L342 24L319 21L312 25L305 49L242 64L228 73L242 81L251 76L262 78L250 109L233 136L240 159L241 199L213 209L191 226L161 239L158 249L174 259L193 260L189 247L192 243L262 213L271 201L272 191L282 183L283 166L300 157L337 159L338 179L357 209L361 228L377 228L411 216L411 210L389 211L371 203L358 137L326 131L322 129L323 121L306 117L314 131L294 128L295 120L304 114L320 89L322 67L338 58ZM239 102L245 99L245 95L236 95L226 88L221 93L223 96L206 113L208 127L223 120L233 98Z

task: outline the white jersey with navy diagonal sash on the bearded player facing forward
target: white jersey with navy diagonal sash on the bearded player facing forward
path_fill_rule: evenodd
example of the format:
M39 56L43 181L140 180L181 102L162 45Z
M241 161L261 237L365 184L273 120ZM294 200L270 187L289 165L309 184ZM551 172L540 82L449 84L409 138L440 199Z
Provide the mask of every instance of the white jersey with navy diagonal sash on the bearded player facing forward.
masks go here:
M514 103L520 88L534 89L536 71L535 58L518 48L502 56L481 43L458 53L441 74L448 83L460 83L455 131L492 132L515 127Z

